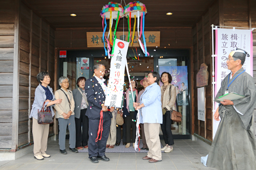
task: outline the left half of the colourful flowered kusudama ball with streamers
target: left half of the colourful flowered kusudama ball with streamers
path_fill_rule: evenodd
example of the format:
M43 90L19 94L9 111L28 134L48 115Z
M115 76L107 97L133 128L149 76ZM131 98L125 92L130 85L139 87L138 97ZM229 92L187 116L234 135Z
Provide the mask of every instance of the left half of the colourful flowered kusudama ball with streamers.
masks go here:
M103 14L105 14L106 19L110 19L110 11L112 11L112 18L117 19L117 13L120 11L119 16L123 17L123 6L118 3L109 2L108 5L102 7L100 11L100 15L103 18Z

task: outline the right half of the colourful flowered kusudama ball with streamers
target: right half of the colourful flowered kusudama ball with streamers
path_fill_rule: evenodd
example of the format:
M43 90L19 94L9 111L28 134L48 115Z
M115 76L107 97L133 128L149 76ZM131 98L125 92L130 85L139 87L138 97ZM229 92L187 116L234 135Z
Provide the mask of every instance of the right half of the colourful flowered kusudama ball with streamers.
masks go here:
M146 6L145 4L142 4L141 2L139 1L135 1L135 2L131 2L129 4L127 4L125 7L124 7L124 15L127 17L127 15L130 14L131 12L131 18L134 18L134 15L137 16L137 11L140 12L140 16L141 16L141 13L142 12L145 12L145 14L147 13L146 11Z

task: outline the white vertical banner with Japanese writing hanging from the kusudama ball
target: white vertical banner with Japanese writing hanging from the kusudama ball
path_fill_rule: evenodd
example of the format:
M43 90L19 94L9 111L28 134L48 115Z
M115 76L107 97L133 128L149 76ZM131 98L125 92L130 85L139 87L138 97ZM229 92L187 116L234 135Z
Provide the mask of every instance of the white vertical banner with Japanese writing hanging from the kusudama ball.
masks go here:
M106 91L105 106L122 107L124 69L129 42L116 39L114 56L111 58L110 79Z

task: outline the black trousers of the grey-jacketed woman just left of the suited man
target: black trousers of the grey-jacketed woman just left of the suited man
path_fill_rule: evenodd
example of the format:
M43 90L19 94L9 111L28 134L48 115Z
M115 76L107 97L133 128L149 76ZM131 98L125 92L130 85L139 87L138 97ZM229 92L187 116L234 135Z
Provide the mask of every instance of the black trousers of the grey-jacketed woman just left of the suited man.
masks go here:
M76 123L76 148L88 145L89 118L86 116L87 109L80 111L80 117L75 118ZM82 128L81 128L82 126Z

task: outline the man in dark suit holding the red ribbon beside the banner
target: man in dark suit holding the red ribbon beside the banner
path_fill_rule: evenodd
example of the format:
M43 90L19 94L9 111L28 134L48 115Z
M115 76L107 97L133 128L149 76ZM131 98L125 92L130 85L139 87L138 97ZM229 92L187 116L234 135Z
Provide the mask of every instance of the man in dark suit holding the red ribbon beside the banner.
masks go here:
M105 74L104 64L97 63L93 69L94 76L86 81L84 89L89 104L86 112L89 118L89 158L93 163L98 163L98 160L110 160L105 156L105 150L112 118L110 111L112 112L114 108L108 111L108 108L104 106L106 92L106 82L103 79ZM103 111L102 115L100 115L101 110Z

